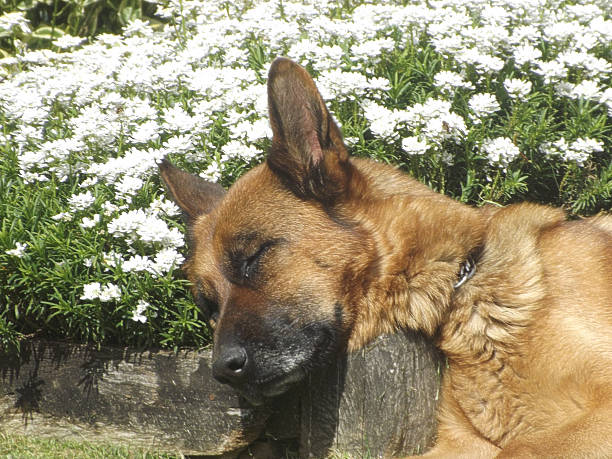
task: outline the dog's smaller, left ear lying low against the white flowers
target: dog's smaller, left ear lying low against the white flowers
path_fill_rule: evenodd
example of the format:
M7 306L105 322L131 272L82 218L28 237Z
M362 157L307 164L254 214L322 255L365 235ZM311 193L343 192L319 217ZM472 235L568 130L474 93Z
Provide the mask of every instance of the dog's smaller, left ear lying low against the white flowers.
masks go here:
M225 195L221 185L185 172L165 159L159 164L159 171L170 196L184 212L188 222L209 213Z

